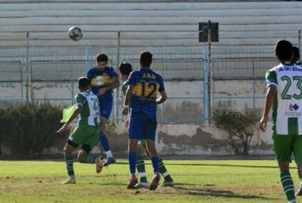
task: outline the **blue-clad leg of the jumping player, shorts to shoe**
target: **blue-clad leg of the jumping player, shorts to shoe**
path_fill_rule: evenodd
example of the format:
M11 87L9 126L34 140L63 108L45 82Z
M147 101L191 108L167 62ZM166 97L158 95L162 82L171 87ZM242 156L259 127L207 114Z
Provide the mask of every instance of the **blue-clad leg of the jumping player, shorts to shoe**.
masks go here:
M108 166L115 163L115 158L113 153L110 150L110 145L108 138L105 135L105 126L108 122L108 118L113 110L113 97L111 96L102 96L99 98L100 102L100 144L105 150L107 160L104 162L103 166Z

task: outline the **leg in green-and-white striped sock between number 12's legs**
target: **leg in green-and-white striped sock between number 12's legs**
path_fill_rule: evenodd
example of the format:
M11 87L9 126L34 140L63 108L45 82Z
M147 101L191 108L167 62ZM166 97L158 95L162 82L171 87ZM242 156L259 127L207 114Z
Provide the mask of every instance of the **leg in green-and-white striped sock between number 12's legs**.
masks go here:
M145 140L138 140L137 147L136 147L136 153L137 153L136 169L137 169L138 175L140 176L140 182L135 184L135 189L149 187L149 184L147 182L147 177L146 177L145 159L142 156L142 150L143 150L142 141L145 142Z

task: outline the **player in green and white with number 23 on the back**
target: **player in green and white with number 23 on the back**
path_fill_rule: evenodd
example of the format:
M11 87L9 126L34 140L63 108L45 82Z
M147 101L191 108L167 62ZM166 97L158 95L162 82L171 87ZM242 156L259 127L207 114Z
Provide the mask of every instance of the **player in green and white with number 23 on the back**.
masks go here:
M273 106L272 132L274 151L283 191L288 202L296 202L289 163L293 153L302 172L302 68L291 63L292 45L281 40L276 43L275 56L280 64L266 72L266 103L259 128L266 130L269 110Z

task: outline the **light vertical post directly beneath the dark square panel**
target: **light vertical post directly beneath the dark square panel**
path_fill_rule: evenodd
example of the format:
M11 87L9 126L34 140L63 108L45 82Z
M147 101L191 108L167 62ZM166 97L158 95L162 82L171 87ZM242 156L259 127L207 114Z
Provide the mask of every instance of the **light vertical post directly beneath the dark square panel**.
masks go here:
M204 124L209 125L209 108L208 108L208 60L207 60L207 45L204 44L203 46L203 54L204 54L204 60L203 60L203 66L204 66Z

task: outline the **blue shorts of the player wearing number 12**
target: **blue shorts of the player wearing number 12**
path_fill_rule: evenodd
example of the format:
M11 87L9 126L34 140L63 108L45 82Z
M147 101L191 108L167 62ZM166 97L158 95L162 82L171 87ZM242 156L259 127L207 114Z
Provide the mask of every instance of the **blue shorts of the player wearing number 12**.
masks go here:
M129 139L155 140L157 122L156 119L137 116L130 117Z

